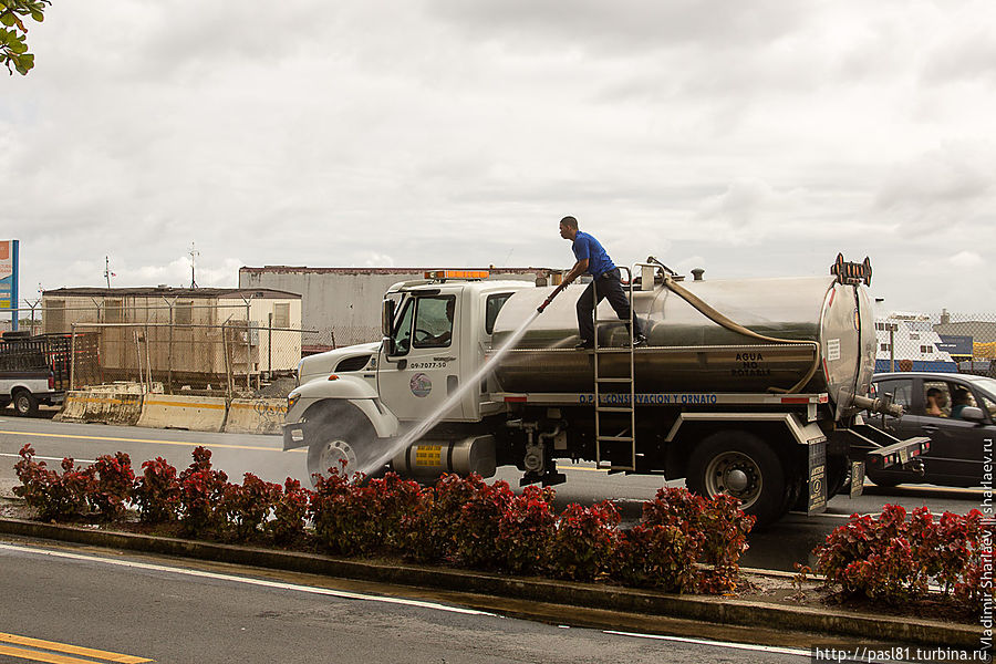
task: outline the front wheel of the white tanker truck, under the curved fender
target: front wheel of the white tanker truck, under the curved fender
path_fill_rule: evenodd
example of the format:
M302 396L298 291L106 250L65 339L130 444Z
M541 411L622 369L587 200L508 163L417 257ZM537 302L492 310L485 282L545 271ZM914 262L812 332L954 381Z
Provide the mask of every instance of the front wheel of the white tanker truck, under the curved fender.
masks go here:
M312 430L308 445L308 475L312 484L315 475L328 477L330 468L346 475L363 471L367 478L378 477L386 470L385 465L366 468L387 452L387 443L377 438L373 425L357 408L347 406L323 413Z

